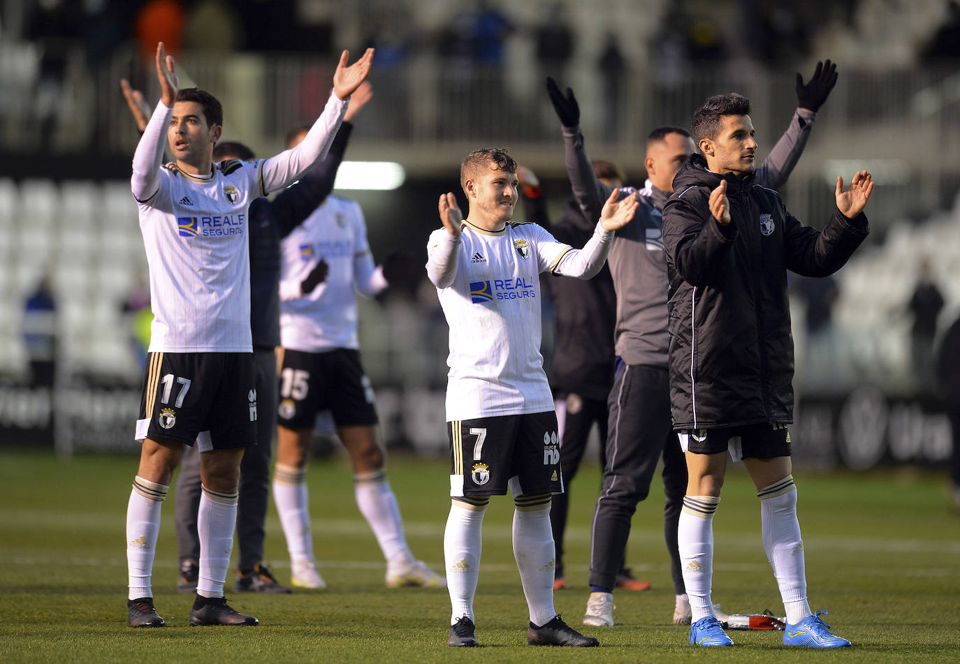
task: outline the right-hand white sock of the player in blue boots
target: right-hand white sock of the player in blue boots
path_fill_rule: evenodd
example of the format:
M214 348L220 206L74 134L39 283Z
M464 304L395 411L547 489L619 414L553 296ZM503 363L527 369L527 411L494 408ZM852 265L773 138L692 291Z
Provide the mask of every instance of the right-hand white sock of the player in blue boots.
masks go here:
M787 475L780 482L764 486L756 497L760 499L763 549L780 586L786 622L796 625L811 611L806 602L804 540L797 520L797 486L793 476Z

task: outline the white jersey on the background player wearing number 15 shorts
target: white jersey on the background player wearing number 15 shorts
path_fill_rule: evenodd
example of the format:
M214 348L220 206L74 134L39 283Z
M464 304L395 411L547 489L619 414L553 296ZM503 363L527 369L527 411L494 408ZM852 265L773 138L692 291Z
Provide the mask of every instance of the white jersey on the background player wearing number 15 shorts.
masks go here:
M326 279L312 293L300 295L300 283L321 259L329 267ZM309 353L360 347L355 289L370 276L356 273L361 265L373 269L360 205L328 196L280 243L281 293L297 294L280 302L284 348Z

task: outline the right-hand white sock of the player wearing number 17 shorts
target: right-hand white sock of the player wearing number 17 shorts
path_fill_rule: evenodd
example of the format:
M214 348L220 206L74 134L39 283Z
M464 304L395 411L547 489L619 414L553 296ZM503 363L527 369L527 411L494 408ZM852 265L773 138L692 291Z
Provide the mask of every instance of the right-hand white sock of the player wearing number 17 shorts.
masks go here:
M240 494L220 493L206 486L203 489L200 509L197 510L197 536L200 539L197 594L201 597L223 597Z

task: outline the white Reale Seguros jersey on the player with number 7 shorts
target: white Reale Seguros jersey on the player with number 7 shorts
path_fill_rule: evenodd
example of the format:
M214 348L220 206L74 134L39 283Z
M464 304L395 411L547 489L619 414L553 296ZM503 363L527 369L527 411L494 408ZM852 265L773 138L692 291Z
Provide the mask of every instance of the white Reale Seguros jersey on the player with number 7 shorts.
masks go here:
M435 230L428 256L448 236ZM536 224L463 225L454 281L437 289L450 328L447 421L553 410L540 355L540 273L570 249Z

